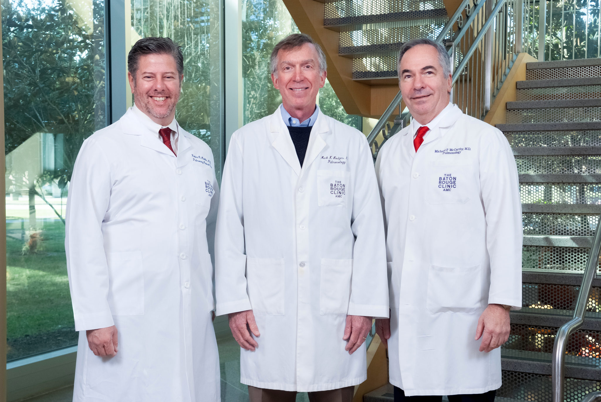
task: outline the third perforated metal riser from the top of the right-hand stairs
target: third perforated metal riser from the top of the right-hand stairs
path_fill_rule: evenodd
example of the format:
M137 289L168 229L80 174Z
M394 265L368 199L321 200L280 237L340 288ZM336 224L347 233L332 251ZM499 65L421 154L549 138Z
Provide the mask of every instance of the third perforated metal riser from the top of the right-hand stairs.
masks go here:
M555 121L601 121L601 107L512 109L507 123L551 123Z

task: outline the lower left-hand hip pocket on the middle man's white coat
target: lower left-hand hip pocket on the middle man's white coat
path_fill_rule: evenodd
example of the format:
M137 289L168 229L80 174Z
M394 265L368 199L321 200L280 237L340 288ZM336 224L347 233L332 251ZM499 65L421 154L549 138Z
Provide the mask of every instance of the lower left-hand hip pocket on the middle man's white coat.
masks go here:
M284 315L284 258L246 258L246 285L255 314Z

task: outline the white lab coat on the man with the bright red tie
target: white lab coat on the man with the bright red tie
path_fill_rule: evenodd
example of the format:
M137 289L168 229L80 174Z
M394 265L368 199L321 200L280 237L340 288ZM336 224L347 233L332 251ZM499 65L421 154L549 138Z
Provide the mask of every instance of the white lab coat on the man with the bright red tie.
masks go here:
M390 282L390 382L405 395L501 386L501 351L479 352L489 303L522 306L522 213L503 134L449 105L417 151L413 120L386 142L376 174Z

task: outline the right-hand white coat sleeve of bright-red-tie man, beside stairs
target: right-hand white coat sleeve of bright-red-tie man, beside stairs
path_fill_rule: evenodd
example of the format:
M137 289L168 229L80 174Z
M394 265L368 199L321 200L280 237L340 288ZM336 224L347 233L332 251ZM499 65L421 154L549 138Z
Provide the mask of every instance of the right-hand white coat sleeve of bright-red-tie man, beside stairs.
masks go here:
M522 204L511 147L497 129L480 144L480 188L490 257L489 304L522 308Z

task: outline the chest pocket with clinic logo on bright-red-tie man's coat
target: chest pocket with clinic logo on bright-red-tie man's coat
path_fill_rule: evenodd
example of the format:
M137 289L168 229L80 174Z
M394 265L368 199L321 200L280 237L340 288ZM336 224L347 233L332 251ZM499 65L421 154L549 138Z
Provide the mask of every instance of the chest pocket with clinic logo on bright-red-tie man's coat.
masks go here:
M465 204L472 184L469 160L436 160L428 165L426 201L430 204Z

